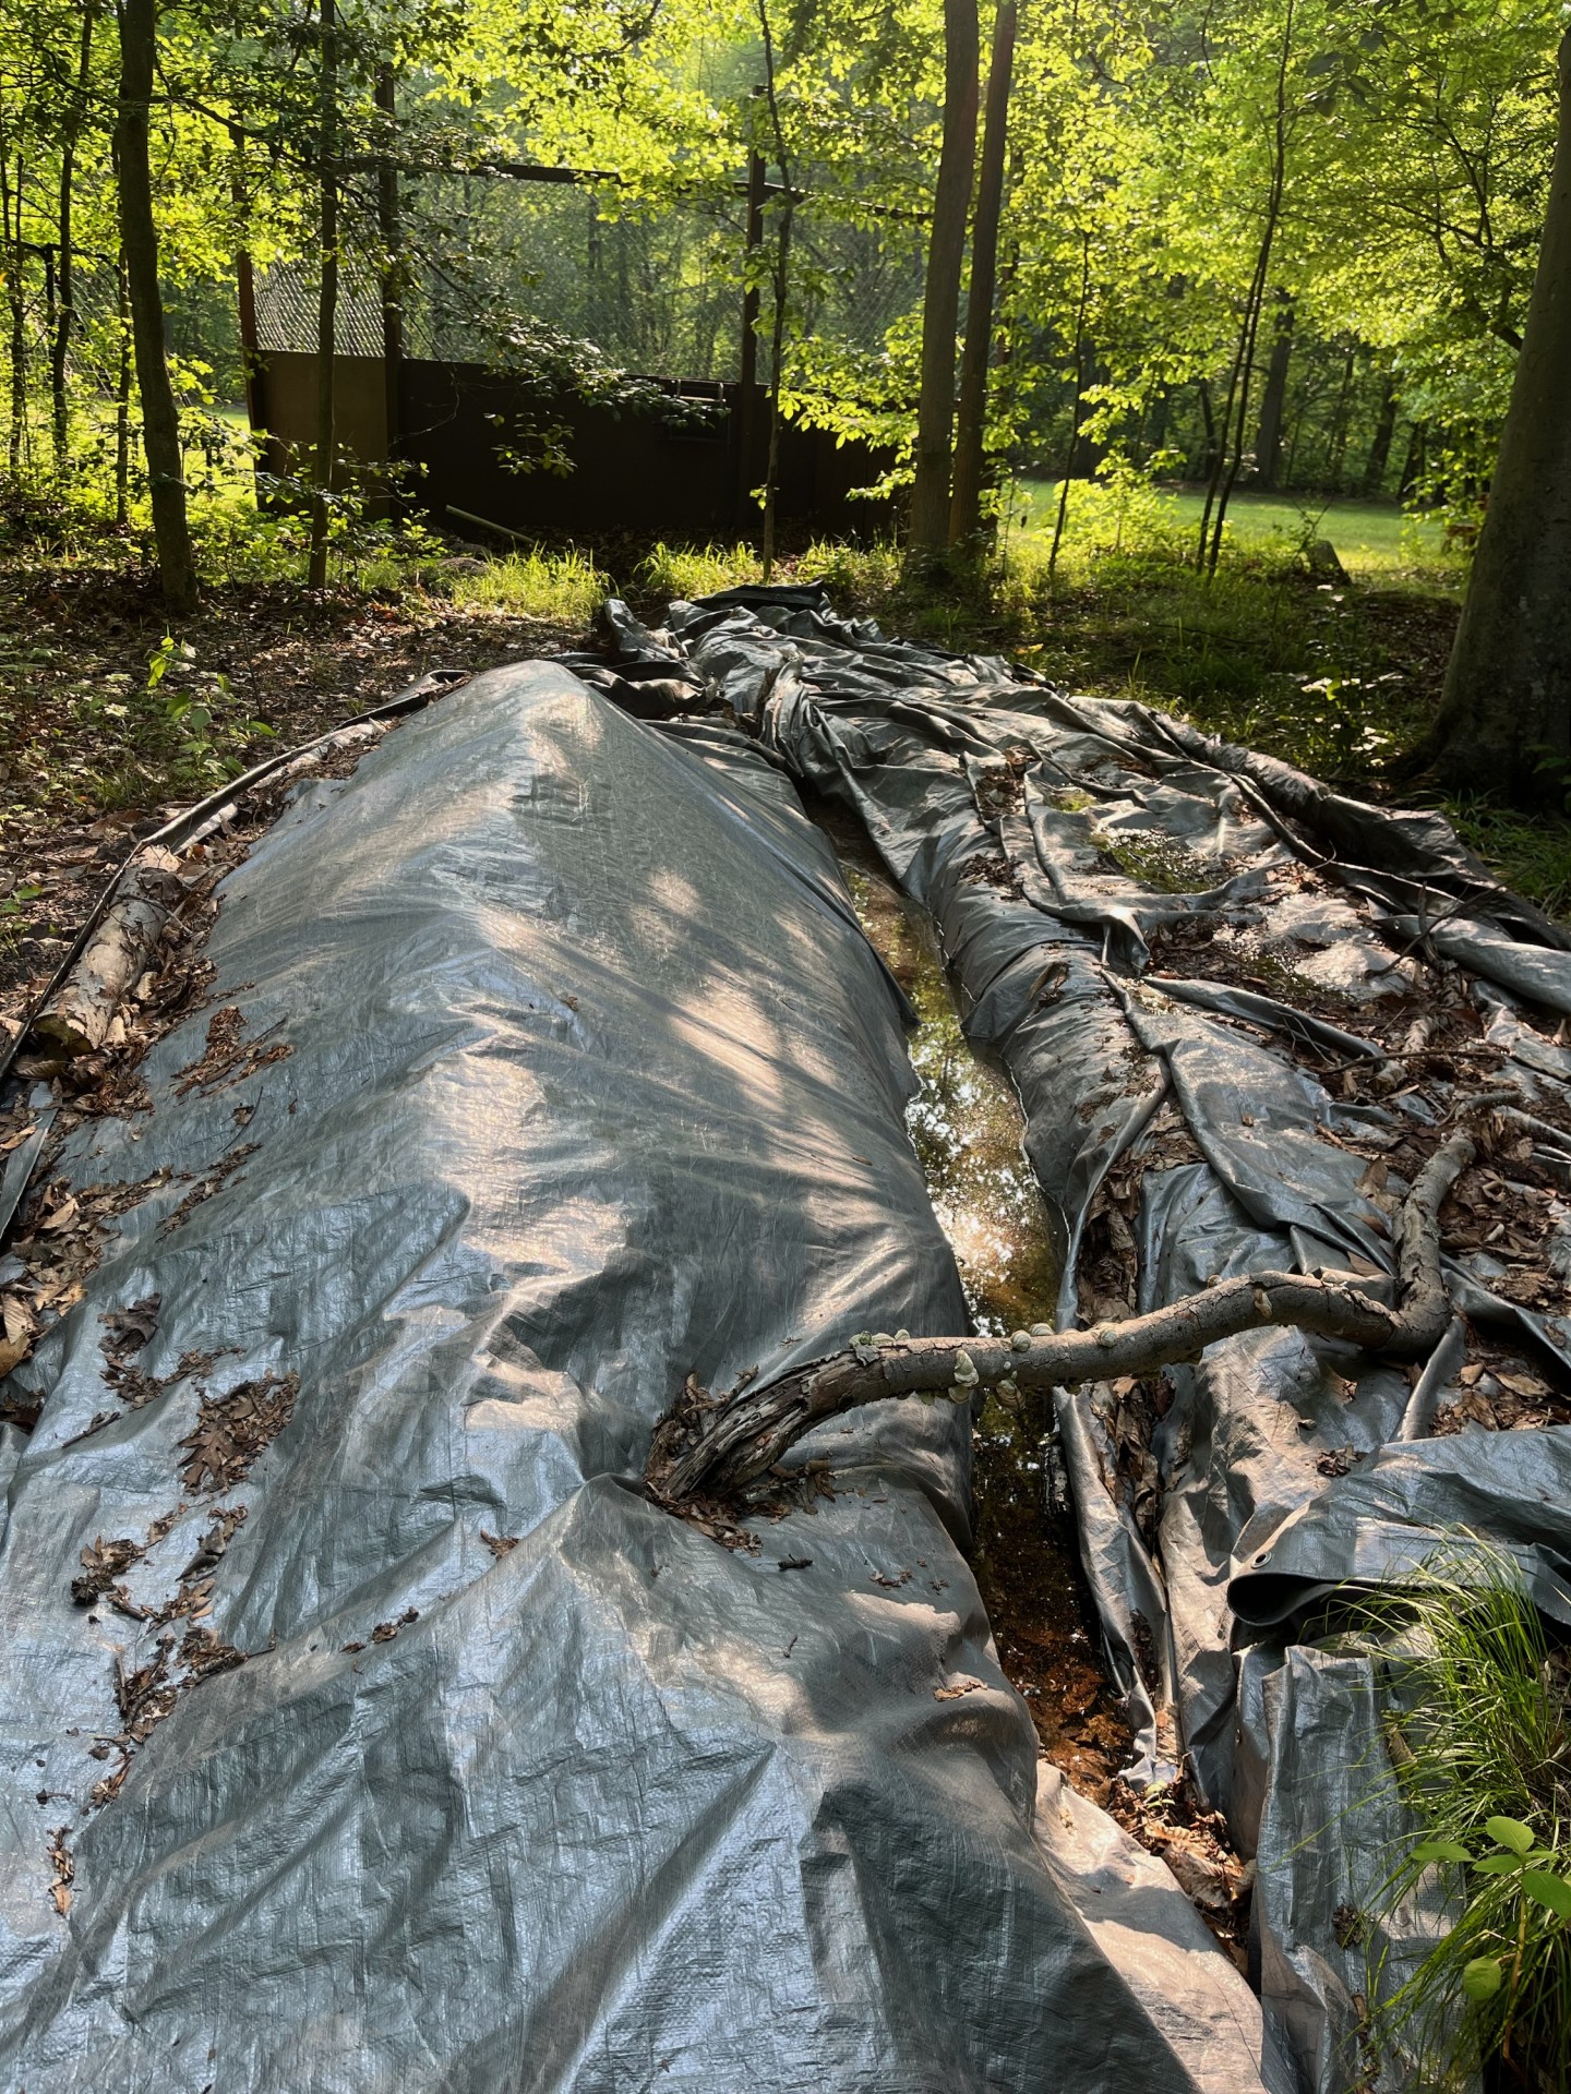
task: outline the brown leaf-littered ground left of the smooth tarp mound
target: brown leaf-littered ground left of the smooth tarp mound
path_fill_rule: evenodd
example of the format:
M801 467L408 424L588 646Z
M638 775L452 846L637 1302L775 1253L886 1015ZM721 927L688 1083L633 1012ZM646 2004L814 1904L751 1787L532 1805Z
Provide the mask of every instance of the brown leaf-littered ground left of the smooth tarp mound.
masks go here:
M149 691L153 586L90 570L0 574L0 1024L17 1032L132 844L251 764L438 668L587 645L534 618L293 584L214 588ZM212 718L191 727L195 706ZM264 733L262 727L272 729ZM203 745L205 743L205 745Z

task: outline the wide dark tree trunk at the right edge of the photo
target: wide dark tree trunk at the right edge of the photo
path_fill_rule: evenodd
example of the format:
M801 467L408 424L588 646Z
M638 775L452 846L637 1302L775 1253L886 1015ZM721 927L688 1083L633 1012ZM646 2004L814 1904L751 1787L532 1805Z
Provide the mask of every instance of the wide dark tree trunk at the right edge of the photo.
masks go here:
M1571 31L1533 297L1426 754L1447 785L1563 804L1571 783Z

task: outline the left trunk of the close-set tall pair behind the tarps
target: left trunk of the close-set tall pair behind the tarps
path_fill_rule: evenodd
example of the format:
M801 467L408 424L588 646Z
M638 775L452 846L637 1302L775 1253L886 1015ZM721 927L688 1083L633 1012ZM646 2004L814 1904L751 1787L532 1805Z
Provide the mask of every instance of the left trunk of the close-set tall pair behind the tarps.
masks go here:
M976 161L976 0L945 0L945 132L922 295L922 389L911 484L911 551L917 555L936 555L949 544L949 440L955 423L959 274Z

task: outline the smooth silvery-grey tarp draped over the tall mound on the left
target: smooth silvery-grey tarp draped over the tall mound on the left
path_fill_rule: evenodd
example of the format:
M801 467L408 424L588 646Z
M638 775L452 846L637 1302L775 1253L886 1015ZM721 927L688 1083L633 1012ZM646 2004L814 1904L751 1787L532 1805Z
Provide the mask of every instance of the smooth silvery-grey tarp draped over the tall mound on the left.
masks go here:
M964 1317L899 993L779 768L494 670L220 892L151 1114L67 1137L145 1191L6 1434L0 2084L1282 2088L1160 1864L1037 1797L964 1411L825 1434L756 1556L637 1487L685 1376ZM222 1011L260 1057L203 1064Z

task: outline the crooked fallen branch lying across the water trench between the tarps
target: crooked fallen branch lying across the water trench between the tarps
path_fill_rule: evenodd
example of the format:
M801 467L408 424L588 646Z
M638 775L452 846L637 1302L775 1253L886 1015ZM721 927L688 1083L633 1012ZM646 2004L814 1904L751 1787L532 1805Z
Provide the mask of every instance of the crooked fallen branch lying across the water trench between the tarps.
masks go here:
M897 1397L968 1403L976 1388L1010 1395L1144 1376L1194 1361L1219 1338L1269 1323L1343 1338L1391 1359L1422 1359L1439 1344L1452 1315L1441 1275L1439 1208L1473 1156L1473 1139L1452 1135L1414 1179L1397 1217L1395 1309L1351 1279L1246 1273L1150 1315L1091 1330L1054 1332L1037 1323L1012 1338L878 1334L767 1388L739 1386L710 1399L689 1384L656 1428L645 1468L649 1493L664 1503L729 1497L767 1474L813 1426L863 1403Z

